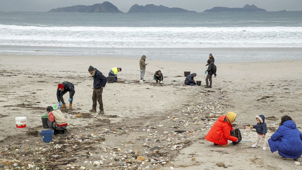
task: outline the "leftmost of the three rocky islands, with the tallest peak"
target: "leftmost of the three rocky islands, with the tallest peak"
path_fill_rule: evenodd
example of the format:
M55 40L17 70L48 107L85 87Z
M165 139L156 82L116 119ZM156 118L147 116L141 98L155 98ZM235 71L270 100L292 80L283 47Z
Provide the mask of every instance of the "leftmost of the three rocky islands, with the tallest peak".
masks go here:
M103 2L90 6L76 5L63 8L51 9L48 12L104 12L104 13L122 13L116 6L110 2Z

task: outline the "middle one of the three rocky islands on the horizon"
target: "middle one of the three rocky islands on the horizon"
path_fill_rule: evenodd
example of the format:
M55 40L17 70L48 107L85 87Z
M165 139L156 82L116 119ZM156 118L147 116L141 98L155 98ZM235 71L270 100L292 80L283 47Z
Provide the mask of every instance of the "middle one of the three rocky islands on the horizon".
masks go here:
M196 11L189 11L184 10L182 8L169 8L167 6L156 6L154 4L147 4L145 6L142 5L133 5L131 6L128 13L169 13L169 12L196 12Z

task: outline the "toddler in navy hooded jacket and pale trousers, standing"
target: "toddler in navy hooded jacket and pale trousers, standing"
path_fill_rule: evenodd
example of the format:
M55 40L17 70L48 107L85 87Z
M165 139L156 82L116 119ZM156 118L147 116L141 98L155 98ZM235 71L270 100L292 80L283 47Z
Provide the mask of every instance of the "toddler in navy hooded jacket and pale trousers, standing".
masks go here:
M264 122L264 119L265 117L263 115L256 116L257 124L250 126L250 128L255 128L256 132L258 133L255 144L251 146L252 148L258 148L258 143L260 140L262 140L262 150L266 150L265 134L267 130L266 130L266 123Z

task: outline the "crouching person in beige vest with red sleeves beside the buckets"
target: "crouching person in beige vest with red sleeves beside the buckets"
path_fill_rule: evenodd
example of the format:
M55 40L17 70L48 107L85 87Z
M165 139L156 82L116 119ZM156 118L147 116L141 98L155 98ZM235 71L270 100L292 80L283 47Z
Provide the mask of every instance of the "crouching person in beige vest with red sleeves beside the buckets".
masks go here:
M53 134L63 134L63 136L66 136L66 127L68 124L61 110L54 110L52 106L48 106L46 110L48 112L47 124L50 129L53 129Z

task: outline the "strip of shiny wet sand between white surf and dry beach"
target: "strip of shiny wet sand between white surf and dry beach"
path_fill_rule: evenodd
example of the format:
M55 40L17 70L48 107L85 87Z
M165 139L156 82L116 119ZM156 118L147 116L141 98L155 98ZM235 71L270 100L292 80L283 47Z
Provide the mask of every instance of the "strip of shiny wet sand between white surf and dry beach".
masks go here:
M66 56L203 63L213 53L217 63L302 60L302 47L260 48L87 48L0 45L0 56Z

